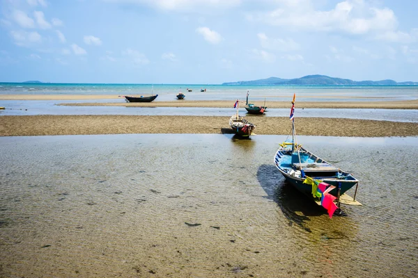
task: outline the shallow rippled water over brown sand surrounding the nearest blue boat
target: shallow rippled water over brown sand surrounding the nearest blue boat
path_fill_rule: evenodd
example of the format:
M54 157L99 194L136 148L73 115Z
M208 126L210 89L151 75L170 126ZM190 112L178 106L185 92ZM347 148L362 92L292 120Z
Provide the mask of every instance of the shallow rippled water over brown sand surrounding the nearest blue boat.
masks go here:
M360 180L332 219L274 167L285 139L0 138L0 276L417 277L417 138L300 136Z

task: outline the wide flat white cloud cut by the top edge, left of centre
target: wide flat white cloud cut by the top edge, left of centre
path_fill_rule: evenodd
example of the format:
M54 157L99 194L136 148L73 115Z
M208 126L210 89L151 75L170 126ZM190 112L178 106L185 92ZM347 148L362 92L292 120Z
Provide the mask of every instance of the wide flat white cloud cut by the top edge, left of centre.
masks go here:
M150 6L160 10L196 11L204 13L208 9L223 10L239 6L241 0L103 0L119 4Z

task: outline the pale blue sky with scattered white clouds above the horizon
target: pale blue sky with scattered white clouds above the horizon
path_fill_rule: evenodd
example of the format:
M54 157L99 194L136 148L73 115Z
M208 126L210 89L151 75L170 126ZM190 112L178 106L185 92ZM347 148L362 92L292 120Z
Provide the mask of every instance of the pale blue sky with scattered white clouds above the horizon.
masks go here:
M0 81L418 81L416 0L0 0Z

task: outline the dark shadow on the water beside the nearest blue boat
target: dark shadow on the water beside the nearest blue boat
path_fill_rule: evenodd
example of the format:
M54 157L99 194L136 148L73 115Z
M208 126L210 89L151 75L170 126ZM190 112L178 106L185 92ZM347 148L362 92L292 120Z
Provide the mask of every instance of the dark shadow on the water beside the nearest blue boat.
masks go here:
M309 216L320 216L325 212L309 198L302 195L290 183L287 183L274 165L263 164L258 167L257 179L267 196L277 203L289 226L297 224L305 231L311 232L305 224L310 221Z

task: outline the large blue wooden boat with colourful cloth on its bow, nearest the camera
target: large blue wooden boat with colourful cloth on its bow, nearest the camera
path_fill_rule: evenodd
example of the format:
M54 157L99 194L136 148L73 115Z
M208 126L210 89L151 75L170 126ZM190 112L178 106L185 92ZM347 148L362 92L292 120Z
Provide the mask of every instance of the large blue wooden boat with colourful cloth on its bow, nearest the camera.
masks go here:
M288 183L327 209L330 218L341 213L340 204L361 205L355 201L359 181L349 172L334 167L297 144L295 133L295 95L291 108L292 140L279 145L274 164ZM355 186L354 198L346 194Z

